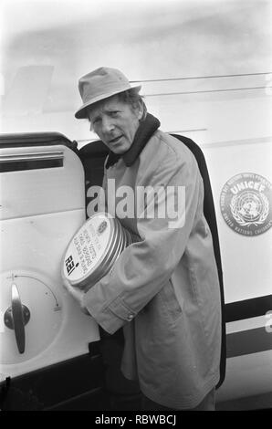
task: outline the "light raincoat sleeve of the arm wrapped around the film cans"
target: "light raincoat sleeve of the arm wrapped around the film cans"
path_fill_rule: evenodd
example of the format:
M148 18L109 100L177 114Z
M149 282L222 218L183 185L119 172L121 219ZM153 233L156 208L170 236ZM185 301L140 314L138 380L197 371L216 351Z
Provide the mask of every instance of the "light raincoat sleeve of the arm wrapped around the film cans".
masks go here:
M160 197L155 204L147 200L143 212L137 214L141 241L127 247L110 273L89 288L83 298L90 315L109 333L131 321L172 276L201 206L203 183L191 152L181 157L168 148L157 158L152 162L141 160L136 188L163 187L169 191L167 201ZM173 209L177 203L178 215L173 219L167 207ZM150 204L154 204L155 215L149 217Z

